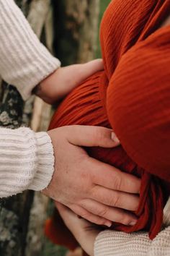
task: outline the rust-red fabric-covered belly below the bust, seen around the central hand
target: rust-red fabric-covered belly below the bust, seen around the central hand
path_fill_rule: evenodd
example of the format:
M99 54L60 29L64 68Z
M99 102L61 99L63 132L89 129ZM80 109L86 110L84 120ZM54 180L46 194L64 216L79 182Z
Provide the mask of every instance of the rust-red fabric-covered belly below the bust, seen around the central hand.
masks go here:
M58 106L50 122L49 129L73 124L114 129L109 124L105 107L107 85L108 81L104 72L98 72L89 77ZM114 229L126 232L146 229L149 231L151 239L153 239L161 229L164 201L166 201L166 192L163 192L160 179L137 166L122 146L117 148L94 147L85 149L91 157L141 177L140 205L135 213L139 218L138 222L135 226L114 223ZM152 216L152 218L149 216Z

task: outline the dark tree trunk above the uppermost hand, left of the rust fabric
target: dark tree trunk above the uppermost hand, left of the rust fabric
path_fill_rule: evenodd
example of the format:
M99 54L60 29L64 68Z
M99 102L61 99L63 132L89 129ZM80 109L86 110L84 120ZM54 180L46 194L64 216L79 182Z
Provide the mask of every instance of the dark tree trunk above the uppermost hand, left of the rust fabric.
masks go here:
M99 0L53 0L55 54L63 65L94 59Z

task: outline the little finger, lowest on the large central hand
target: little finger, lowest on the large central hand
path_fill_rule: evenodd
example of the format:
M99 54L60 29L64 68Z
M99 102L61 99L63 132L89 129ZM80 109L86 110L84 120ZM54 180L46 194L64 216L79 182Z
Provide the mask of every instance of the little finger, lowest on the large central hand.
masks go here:
M90 221L91 223L95 223L97 225L104 225L104 226L112 226L112 221L107 220L106 218L94 215L93 213L90 213L85 208L82 208L79 205L71 205L69 206L71 210L73 210L74 213L76 213L78 216L81 216L82 218L85 218L86 221Z

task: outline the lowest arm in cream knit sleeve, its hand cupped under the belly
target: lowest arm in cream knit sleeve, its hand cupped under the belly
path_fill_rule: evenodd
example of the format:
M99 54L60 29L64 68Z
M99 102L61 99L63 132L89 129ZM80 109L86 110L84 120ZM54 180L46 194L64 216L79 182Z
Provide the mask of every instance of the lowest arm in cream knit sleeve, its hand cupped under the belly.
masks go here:
M170 201L169 201L170 202ZM169 202L167 202L166 207L164 208L164 218L168 219L169 217ZM84 219L78 218L71 210L61 205L58 202L55 202L58 212L63 218L64 223L70 229L72 234L75 236L77 242L81 245L84 251L90 255L94 255L94 242L97 239L97 235L101 231L99 226L95 226ZM166 211L167 210L167 211ZM126 234L125 232L112 231L112 236L110 232L105 234L106 239L110 239L107 246L112 250L112 255L119 255L117 251L117 244L120 245L120 254L122 255L139 255L139 248L141 247L141 242L143 248L145 248L146 255L160 255L160 248L162 255L170 255L169 239L170 239L170 226L163 231L159 232L153 241L149 239L148 232L136 232L135 234ZM99 240L100 241L100 240ZM98 241L98 242L99 242ZM132 246L130 253L130 244L135 244L135 247ZM164 245L163 245L164 244ZM100 245L101 246L101 245ZM99 247L98 247L99 249ZM101 252L100 252L101 254Z

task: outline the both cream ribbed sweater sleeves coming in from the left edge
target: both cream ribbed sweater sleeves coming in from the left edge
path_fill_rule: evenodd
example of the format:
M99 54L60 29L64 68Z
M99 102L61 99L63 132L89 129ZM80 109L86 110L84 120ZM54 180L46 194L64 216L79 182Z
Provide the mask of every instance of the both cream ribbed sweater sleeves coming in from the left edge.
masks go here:
M0 76L24 99L60 66L13 0L0 0ZM46 132L0 128L0 197L41 190L53 175L53 146Z

